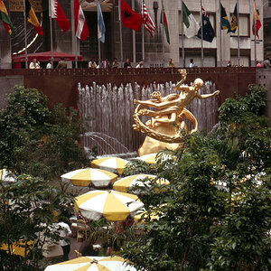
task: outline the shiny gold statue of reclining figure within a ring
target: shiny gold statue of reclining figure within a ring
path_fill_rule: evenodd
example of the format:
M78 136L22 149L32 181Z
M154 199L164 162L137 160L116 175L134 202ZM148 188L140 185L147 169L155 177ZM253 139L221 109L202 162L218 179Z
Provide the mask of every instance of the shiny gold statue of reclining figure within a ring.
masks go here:
M141 131L146 136L144 144L139 148L138 154L152 154L164 148L177 149L182 143L182 134L194 133L198 130L197 119L185 107L189 105L193 98L210 98L220 93L219 90L200 95L198 90L203 85L202 79L195 79L193 85L183 86L186 79L186 70L178 70L182 79L174 87L180 91L180 94L170 94L162 98L159 91L154 91L149 100L135 100L133 128ZM157 110L146 109L145 107L154 107ZM151 117L145 124L140 120L140 116ZM183 120L186 118L192 124L192 130L188 128Z

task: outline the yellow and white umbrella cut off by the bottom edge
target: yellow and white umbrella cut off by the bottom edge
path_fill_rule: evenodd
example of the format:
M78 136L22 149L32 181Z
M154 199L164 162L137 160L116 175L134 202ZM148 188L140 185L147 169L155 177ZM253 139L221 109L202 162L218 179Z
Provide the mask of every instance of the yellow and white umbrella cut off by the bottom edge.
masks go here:
M78 257L70 261L47 266L44 271L136 271L123 257Z

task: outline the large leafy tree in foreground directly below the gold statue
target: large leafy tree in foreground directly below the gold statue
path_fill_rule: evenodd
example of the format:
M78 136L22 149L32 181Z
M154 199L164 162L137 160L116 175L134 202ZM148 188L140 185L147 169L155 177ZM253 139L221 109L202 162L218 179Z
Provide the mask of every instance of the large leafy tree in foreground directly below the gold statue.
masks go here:
M176 160L166 163L168 171L161 170L164 163L158 166L158 178L166 177L171 183L164 192L154 187L150 193L139 193L148 213L155 212L160 218L146 219L145 235L122 248L123 256L136 267L174 270L181 266L184 270L190 265L198 270L210 255L210 227L224 214L226 198L212 180L224 170L218 155L198 145L198 140L200 135L187 139L183 151L175 153Z

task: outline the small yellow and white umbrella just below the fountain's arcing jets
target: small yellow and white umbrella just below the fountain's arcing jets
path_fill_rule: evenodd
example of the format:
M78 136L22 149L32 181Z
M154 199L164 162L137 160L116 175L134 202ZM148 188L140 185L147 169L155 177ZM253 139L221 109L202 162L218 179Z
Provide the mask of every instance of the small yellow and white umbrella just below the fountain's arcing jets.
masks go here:
M128 163L127 160L117 157L105 157L95 159L91 162L91 167L100 168L111 173L121 174Z

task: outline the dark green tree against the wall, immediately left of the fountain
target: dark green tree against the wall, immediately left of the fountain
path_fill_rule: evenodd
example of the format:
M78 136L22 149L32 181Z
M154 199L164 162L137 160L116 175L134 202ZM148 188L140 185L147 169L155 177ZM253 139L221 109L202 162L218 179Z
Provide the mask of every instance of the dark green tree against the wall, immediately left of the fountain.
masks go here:
M45 179L52 179L89 165L89 159L78 143L81 131L77 115L73 108L67 110L61 105L53 108L44 140L33 154L34 175L42 173Z

